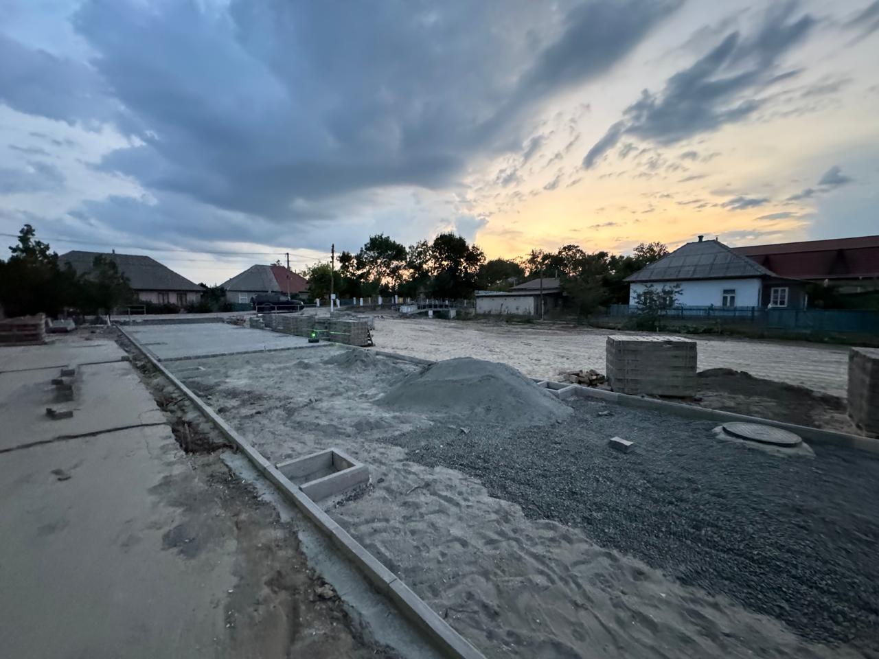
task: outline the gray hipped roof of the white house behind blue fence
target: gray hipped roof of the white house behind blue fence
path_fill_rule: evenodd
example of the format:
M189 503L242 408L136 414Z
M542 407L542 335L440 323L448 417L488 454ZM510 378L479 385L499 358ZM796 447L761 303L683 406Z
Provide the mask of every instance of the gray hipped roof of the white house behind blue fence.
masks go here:
M686 279L747 279L776 277L774 272L737 254L716 240L686 243L626 281L682 281Z

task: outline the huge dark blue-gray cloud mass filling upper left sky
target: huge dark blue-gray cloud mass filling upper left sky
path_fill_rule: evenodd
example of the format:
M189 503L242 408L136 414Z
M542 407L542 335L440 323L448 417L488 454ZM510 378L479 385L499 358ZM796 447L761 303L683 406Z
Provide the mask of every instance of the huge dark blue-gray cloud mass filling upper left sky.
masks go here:
M112 122L136 146L100 167L150 192L297 221L300 199L444 187L473 156L521 148L528 112L605 73L678 6L86 0L73 23L93 59L0 37L0 100Z

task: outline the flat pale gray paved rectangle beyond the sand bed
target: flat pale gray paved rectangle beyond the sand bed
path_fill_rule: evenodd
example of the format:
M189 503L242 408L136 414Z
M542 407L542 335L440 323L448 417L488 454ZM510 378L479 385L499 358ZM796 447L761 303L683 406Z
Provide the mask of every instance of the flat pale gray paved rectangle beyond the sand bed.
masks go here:
M306 337L236 327L224 322L193 325L145 325L126 328L134 339L162 361L207 355L285 348L314 348Z

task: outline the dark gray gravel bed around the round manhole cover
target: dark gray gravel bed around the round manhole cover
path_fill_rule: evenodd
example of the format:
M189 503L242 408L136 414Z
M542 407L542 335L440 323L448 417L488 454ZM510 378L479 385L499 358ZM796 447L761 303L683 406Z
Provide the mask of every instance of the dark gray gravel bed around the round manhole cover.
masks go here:
M715 438L713 423L572 407L558 424L471 419L469 432L438 424L388 441L810 641L879 648L879 460L824 446L780 458ZM631 453L607 446L617 435L636 442Z

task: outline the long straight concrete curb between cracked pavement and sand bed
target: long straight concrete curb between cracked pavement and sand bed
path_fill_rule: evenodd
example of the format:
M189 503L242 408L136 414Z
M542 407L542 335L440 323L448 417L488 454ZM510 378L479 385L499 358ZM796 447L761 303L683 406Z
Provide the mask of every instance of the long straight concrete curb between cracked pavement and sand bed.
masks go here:
M367 576L367 579L373 583L377 590L386 597L389 597L397 609L418 626L440 652L451 659L485 659L479 650L470 645L469 641L466 641L461 634L454 631L444 619L440 618L436 612L425 604L424 600L412 592L393 572L382 565L381 561L367 552L357 540L354 540L320 506L304 495L284 474L281 474L277 467L263 457L262 453L259 453L250 442L241 437L227 424L222 419L222 416L219 416L207 404L202 402L199 396L193 394L183 382L162 366L149 351L143 348L141 344L138 344L125 329L118 325L117 327L122 336L126 337L134 347L141 351L149 359L150 363L168 378L171 384L179 389L181 394L193 402L193 405L203 415L207 416L207 419L216 426L217 430L221 431L223 436L236 445L238 450L248 460L251 460L253 465L257 467L258 471L266 479L272 482L276 488L280 489L284 496L287 496L307 518L329 536L333 544L345 554L345 557Z

